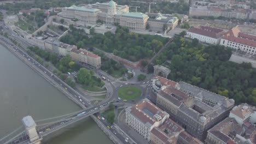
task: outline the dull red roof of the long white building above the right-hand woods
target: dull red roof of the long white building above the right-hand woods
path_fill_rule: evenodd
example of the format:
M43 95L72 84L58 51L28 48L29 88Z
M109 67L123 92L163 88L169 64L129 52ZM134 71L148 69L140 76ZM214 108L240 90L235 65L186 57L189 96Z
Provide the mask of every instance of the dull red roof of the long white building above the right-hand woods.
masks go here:
M219 28L197 26L197 27L190 28L188 32L204 35L206 37L211 37L211 38L220 38L222 37L222 33L224 31L223 29L219 29Z

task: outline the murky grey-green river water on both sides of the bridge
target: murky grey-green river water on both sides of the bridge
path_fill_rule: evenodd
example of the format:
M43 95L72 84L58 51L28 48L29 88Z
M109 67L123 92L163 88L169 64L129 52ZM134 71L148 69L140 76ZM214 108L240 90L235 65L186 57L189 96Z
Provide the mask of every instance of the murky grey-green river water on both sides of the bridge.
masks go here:
M0 139L22 125L21 119L32 116L45 119L80 110L50 83L0 45ZM72 129L43 144L113 142L87 118Z

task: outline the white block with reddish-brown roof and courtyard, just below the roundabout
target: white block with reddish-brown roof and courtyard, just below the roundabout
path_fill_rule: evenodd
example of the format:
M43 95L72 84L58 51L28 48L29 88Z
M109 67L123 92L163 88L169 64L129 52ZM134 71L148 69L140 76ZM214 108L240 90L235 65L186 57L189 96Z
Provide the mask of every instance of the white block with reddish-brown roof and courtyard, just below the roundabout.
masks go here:
M134 106L125 109L125 123L144 139L150 141L150 131L162 125L169 114L155 106L148 99L143 99Z

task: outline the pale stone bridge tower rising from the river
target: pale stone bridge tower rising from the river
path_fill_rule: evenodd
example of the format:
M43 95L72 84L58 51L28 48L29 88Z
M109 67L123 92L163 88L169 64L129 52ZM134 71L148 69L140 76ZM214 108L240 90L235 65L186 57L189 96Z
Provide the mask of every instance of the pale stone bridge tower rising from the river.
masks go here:
M28 137L30 137L31 144L40 144L40 137L37 134L36 126L37 124L34 122L34 119L31 116L26 116L22 118L22 123L26 128L26 133Z

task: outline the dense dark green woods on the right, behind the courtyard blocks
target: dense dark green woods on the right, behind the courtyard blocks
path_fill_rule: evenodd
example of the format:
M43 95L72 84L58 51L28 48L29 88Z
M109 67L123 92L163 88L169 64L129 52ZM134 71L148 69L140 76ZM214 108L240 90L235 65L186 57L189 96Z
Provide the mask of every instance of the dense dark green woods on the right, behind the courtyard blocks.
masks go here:
M202 46L198 40L188 43L178 37L161 53L155 64L167 60L171 73L168 79L185 81L211 92L235 99L236 103L256 103L256 69L250 63L228 61L231 49ZM166 64L166 63L165 63Z

